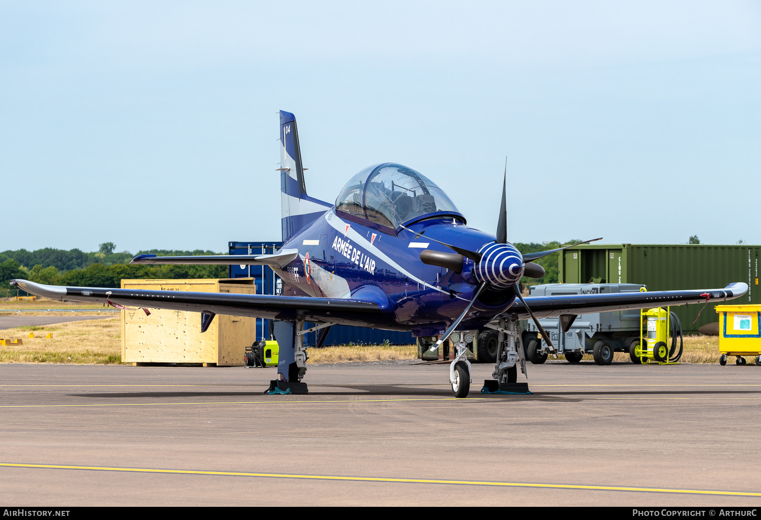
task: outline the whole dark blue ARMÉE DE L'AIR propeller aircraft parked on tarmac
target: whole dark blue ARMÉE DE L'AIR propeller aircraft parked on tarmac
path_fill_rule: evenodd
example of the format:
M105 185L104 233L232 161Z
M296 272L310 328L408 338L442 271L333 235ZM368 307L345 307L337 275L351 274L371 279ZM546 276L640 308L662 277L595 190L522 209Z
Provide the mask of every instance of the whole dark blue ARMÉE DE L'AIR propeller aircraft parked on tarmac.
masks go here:
M544 274L533 261L565 248L521 255L508 243L506 182L493 236L468 227L444 191L398 163L361 170L335 204L312 198L304 182L296 119L282 111L280 144L282 249L272 255L139 255L131 263L269 265L282 278L282 296L11 284L59 300L201 312L201 331L216 314L279 320L274 327L279 379L270 392L307 392L301 382L307 371L303 336L310 331L320 330L318 346L332 325L438 336L431 350L450 339L450 383L457 397L470 389L466 344L473 331L498 334L494 380L485 388L504 391L516 388L517 366L526 373L518 320L533 319L554 355L537 318L559 316L567 331L585 312L729 300L748 289L739 282L710 290L524 297L521 277ZM310 323L316 325L307 328Z

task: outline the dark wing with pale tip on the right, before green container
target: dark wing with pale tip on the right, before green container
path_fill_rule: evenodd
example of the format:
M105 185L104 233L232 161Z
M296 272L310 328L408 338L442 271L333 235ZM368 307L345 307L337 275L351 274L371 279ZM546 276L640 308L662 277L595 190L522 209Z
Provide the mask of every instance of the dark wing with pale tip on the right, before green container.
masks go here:
M524 296L527 306L537 318L562 314L587 314L625 309L651 309L686 303L723 302L748 292L748 284L736 282L724 289L659 290L642 293L568 294L564 296ZM523 303L516 300L508 313L517 312L520 319L530 318Z

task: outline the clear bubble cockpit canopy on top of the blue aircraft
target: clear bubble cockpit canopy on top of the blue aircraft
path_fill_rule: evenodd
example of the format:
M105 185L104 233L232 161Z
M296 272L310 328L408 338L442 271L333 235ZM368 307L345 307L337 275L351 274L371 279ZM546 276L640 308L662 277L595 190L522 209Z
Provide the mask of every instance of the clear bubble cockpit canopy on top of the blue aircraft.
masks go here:
M336 209L394 229L427 214L461 215L431 179L396 163L368 166L353 176L336 198Z

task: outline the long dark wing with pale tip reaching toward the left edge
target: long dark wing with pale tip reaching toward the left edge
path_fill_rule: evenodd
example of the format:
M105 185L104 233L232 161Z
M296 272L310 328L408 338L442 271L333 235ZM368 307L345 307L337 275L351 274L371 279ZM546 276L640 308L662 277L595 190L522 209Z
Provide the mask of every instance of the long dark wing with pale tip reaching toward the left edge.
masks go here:
M264 294L191 293L176 290L109 289L106 287L64 287L27 280L11 280L11 285L27 293L53 300L113 303L115 306L173 309L207 314L228 314L255 318L337 325L375 327L387 320L377 303L368 300L341 300L312 296L268 296Z

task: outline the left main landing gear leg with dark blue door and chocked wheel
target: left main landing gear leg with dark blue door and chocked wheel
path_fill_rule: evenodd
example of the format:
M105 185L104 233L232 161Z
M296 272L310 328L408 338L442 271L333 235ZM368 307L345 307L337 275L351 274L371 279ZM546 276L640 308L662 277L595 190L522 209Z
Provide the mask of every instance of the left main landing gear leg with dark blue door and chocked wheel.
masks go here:
M307 372L307 349L304 347L304 320L275 322L278 341L278 379L269 382L266 394L306 394L307 383L301 382ZM302 334L298 334L302 332Z

